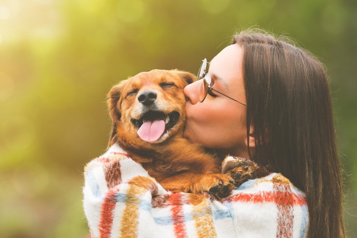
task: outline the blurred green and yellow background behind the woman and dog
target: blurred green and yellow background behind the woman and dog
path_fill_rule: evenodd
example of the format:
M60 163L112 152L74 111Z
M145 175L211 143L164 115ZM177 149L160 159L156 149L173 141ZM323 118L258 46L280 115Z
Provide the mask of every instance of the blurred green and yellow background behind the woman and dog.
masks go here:
M0 237L84 237L83 167L106 149L110 88L154 68L196 73L253 25L295 38L328 68L357 237L352 0L0 0Z

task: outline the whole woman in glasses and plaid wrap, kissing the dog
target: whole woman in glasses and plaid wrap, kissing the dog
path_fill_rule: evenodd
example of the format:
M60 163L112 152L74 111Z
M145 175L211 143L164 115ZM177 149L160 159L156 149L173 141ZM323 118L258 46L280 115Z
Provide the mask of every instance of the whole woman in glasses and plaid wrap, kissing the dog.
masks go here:
M250 158L275 173L243 183L221 203L167 193L124 151L111 148L85 171L92 236L344 237L340 167L321 63L268 34L242 32L209 70L203 62L199 76L184 91L185 137L223 158ZM120 170L119 162L131 171ZM118 170L121 180L113 179Z

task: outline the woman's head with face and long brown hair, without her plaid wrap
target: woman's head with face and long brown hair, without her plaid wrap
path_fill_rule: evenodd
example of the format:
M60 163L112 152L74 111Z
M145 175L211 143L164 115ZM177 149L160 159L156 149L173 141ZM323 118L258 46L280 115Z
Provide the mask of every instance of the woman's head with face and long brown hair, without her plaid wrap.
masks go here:
M211 62L212 90L200 89L202 80L185 88L185 136L282 173L307 196L309 237L344 236L341 173L323 65L266 34L243 32L232 43Z

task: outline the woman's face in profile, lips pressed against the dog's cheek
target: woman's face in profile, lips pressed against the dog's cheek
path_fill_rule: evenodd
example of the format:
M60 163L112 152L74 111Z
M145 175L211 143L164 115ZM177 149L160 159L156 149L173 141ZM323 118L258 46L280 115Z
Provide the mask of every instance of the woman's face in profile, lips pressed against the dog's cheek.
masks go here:
M210 63L212 88L246 104L243 71L243 50L238 44L224 48ZM202 80L184 89L186 127L184 136L204 147L226 154L246 156L246 107L215 91L199 102Z

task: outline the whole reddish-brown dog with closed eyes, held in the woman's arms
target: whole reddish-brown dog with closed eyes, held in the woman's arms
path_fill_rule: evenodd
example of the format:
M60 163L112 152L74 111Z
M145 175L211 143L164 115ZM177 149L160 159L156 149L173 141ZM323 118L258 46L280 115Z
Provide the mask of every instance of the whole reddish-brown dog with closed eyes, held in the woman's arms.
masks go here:
M114 86L108 94L109 145L117 143L167 190L224 197L233 180L219 174L221 161L183 138L183 89L194 79L184 71L151 70Z

